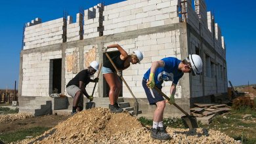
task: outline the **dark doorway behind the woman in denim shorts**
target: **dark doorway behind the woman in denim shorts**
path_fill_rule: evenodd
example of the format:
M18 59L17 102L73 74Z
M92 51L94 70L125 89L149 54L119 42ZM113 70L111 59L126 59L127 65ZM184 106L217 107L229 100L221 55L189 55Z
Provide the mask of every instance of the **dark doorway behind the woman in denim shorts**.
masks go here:
M108 55L112 58L113 56L120 56L120 52L118 50L116 51L112 51L112 52L108 52ZM104 63L108 60L108 58L106 57L106 54L103 54L103 65ZM119 78L119 81L121 82L121 91L119 94L119 97L123 97L123 81L121 80L121 78ZM110 86L108 86L108 83L106 82L106 79L103 79L103 97L106 98L108 97L108 94L110 92Z

